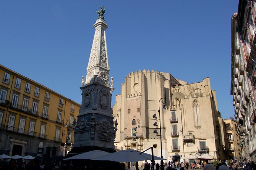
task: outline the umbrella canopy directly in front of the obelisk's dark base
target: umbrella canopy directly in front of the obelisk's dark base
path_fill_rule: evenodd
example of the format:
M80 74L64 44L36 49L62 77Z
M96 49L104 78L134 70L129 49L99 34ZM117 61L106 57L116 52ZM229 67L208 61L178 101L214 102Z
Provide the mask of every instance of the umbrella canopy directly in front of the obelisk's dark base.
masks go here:
M105 151L100 151L100 150L94 150L94 151L89 151L89 152L84 152L82 154L79 155L75 155L63 160L73 160L73 159L92 159L95 157L99 157L99 156L104 156L104 155L108 155L110 154L109 152L105 152Z

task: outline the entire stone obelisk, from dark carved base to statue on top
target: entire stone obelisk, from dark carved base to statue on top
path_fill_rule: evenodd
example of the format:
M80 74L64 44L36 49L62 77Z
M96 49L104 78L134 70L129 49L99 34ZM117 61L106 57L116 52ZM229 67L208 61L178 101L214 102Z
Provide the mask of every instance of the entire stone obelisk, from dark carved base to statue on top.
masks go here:
M104 7L96 11L99 18L95 28L86 79L82 79L82 103L77 122L74 122L75 143L70 155L92 150L115 152L114 140L117 122L113 123L109 84L109 60L104 20ZM110 92L111 91L111 92Z

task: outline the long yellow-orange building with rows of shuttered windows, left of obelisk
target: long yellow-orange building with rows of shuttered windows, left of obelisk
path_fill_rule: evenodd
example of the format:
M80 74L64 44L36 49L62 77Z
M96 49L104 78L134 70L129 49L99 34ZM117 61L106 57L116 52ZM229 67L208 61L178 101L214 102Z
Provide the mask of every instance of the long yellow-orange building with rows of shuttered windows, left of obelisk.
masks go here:
M81 105L2 65L0 80L0 154L65 156Z

